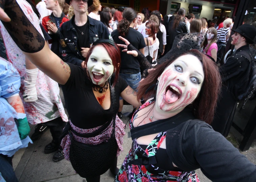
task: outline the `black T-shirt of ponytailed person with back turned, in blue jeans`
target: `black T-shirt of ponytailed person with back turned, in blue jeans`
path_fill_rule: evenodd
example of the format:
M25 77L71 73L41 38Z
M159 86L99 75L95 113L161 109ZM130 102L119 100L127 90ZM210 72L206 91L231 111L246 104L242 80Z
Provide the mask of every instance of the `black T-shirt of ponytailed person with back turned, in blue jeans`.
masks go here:
M111 33L111 36L115 41L115 43L125 45L125 43L118 38L120 36L118 30L114 30ZM146 47L143 35L131 27L129 29L128 34L124 38L127 39L136 49L141 49ZM123 48L121 48L121 50L123 50ZM121 51L120 73L122 72L139 73L140 65L137 59L133 55L129 55L126 52Z

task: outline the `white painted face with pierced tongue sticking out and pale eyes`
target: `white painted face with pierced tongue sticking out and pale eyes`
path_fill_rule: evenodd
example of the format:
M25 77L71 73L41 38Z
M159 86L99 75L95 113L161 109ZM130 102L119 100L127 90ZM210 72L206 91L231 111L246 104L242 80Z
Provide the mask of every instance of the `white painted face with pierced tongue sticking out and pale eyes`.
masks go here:
M160 76L157 87L157 110L183 110L195 100L203 81L203 65L199 59L190 54L177 58Z

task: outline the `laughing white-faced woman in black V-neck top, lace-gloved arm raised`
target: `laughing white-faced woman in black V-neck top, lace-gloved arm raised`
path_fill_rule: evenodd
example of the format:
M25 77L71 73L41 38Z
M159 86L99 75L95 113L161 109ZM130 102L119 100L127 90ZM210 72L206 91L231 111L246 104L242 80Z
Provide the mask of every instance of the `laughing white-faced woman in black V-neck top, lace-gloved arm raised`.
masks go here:
M135 107L141 105L137 93L118 76L121 62L119 47L111 40L100 39L89 49L84 68L65 63L45 44L19 4L15 0L0 0L1 7L5 3L12 4L5 8L12 21L10 23L8 18L4 18L1 8L0 20L7 21L3 24L10 36L34 65L62 86L70 117L61 137L65 158L88 182L99 182L100 175L108 169L116 175L119 171L117 155L122 150L125 135L124 124L117 117L119 97ZM13 16L13 12L22 16L22 21L16 17L17 14ZM20 32L29 29L27 38L13 32L18 27ZM134 56L142 55L132 45L126 48L132 50L130 53ZM143 57L138 56L143 70L152 67L149 62L145 63L146 59L139 58Z

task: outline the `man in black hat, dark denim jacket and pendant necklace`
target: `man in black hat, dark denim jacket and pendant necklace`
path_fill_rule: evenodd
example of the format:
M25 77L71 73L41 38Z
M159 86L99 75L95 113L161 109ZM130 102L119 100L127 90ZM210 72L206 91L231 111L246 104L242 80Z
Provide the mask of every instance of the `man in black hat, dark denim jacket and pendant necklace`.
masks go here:
M87 52L98 39L109 39L107 27L100 21L87 16L93 0L66 0L74 8L72 19L60 28L60 58L78 66L84 66Z

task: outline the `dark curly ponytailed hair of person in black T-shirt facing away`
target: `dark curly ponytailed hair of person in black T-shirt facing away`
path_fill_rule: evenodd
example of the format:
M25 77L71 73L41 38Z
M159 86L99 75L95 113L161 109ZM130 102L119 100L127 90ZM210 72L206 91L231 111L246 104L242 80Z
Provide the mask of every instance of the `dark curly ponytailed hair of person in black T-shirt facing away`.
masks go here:
M133 8L125 8L123 10L123 20L118 24L117 30L123 37L129 32L132 21L137 17L137 12Z

